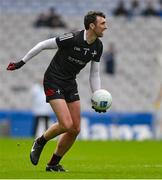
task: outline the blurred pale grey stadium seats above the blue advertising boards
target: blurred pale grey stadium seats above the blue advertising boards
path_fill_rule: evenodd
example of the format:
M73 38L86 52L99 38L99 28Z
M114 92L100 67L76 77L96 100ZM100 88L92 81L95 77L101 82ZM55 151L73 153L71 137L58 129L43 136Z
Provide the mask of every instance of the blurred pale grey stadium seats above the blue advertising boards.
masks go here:
M43 78L43 73L50 63L55 50L43 51L41 54L29 61L22 69L14 72L7 72L7 64L14 59L19 59L25 55L36 43L49 37L60 35L72 29L83 28L83 18L90 6L84 1L78 1L75 8L70 8L66 0L62 0L63 6L60 8L60 1L50 1L45 7L40 5L40 1L15 0L11 8L12 1L0 1L0 109L30 109L32 99L30 88L39 78ZM106 0L102 0L106 3ZM89 3L93 7L101 7L102 3ZM110 8L114 7L116 1L112 1ZM143 1L142 1L143 2ZM42 1L43 3L43 1ZM15 5L16 4L16 5ZM33 22L37 13L42 8L51 5L58 7L68 22L68 29L47 29L33 27ZM10 11L8 10L10 6ZM14 13L16 8L24 8L19 13ZM36 7L36 9L34 9ZM80 14L76 12L82 7ZM67 10L67 8L69 8ZM7 11L4 12L4 9ZM71 9L71 10L70 10ZM106 10L108 12L108 9ZM72 16L73 19L71 20ZM157 57L162 50L161 32L162 23L158 18L136 18L129 21L124 18L108 18L108 30L103 38L104 50L111 42L117 49L117 72L111 77L104 72L104 62L101 62L102 87L109 90L113 96L113 111L152 111L152 103L157 94L161 81L161 68ZM89 65L78 75L79 91L81 96L82 110L89 111L91 92L88 84ZM86 88L85 88L86 87Z

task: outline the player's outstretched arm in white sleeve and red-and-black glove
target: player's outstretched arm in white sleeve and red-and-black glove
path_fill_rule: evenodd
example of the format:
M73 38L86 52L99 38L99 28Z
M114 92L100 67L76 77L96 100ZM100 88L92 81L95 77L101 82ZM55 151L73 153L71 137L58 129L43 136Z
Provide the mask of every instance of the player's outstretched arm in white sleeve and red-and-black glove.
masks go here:
M21 68L27 61L29 61L30 59L32 59L34 56L36 56L37 54L39 54L42 50L45 49L56 49L57 43L56 43L56 38L51 38L45 41L42 41L40 43L38 43L36 46L34 46L23 58L21 61L14 63L11 62L8 67L7 70L16 70Z

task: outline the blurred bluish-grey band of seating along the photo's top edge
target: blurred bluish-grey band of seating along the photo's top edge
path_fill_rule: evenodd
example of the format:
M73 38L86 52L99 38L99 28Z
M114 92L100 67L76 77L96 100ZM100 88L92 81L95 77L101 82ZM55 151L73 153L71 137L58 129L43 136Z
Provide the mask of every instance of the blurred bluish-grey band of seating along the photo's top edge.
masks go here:
M130 7L130 0L123 0L127 8ZM148 0L140 0L141 9L146 6ZM152 0L158 8L158 0ZM38 13L46 11L49 7L54 6L60 14L65 16L83 16L89 10L102 10L106 14L111 14L119 0L1 0L1 12L25 12Z

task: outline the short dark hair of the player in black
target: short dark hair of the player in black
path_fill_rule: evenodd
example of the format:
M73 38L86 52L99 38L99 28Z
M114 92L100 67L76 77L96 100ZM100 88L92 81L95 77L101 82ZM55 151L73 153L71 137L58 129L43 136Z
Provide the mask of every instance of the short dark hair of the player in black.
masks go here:
M84 26L85 29L88 30L89 29L89 25L91 23L96 23L96 19L97 16L101 16L103 18L105 18L105 14L101 11L89 11L85 16L84 16Z

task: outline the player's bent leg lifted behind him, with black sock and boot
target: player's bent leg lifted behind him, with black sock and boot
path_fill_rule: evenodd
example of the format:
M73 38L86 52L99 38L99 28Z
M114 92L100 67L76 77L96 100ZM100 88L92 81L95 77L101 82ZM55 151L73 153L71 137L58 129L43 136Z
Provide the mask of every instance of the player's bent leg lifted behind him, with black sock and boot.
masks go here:
M57 116L58 123L53 124L47 129L43 136L34 142L30 153L30 159L34 165L38 164L40 154L48 140L59 134L70 131L73 127L73 121L64 99L50 100L50 105Z

